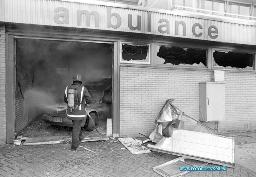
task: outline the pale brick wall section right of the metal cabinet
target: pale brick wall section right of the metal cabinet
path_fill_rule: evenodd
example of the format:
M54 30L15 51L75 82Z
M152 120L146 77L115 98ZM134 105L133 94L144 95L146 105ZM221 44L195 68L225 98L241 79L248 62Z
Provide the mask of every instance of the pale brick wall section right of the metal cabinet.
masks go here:
M256 128L256 74L225 72L225 120L220 130Z

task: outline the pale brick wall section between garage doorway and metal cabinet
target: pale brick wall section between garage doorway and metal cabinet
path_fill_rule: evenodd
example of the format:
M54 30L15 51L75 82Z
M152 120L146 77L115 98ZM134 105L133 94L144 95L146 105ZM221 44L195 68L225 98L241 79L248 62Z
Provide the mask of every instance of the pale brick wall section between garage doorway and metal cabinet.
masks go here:
M140 136L155 129L155 119L169 98L198 119L201 81L211 81L211 72L121 66L120 137Z

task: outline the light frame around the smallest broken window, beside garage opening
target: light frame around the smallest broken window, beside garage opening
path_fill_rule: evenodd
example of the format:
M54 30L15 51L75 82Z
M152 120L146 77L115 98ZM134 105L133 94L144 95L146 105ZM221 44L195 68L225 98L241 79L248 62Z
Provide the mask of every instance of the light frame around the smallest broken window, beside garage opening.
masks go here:
M122 45L123 44L129 44L129 45L137 45L137 46L148 46L148 61L147 62L141 62L140 60L138 61L124 61L123 59L123 49ZM151 66L151 43L140 43L140 42L128 42L128 41L120 41L119 42L119 63L121 65L126 64L126 65L144 65L144 66Z

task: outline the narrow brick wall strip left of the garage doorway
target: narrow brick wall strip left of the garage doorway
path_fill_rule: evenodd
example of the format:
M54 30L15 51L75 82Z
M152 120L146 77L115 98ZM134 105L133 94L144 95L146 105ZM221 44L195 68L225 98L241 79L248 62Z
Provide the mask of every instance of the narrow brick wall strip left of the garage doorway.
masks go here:
M0 144L6 142L6 110L5 110L5 26L0 25Z

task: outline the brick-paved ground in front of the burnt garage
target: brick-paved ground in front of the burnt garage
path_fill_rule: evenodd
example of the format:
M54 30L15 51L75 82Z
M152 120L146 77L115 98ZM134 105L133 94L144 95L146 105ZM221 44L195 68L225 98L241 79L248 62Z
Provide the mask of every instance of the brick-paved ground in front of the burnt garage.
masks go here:
M256 137L256 135L255 135ZM253 143L254 141L251 141ZM3 177L161 177L152 167L177 158L151 152L132 154L117 139L85 142L82 145L98 154L70 151L70 145L1 145L0 176ZM236 152L237 153L237 152ZM208 164L207 166L219 166ZM252 177L256 173L243 164L221 172L189 172L184 177Z

